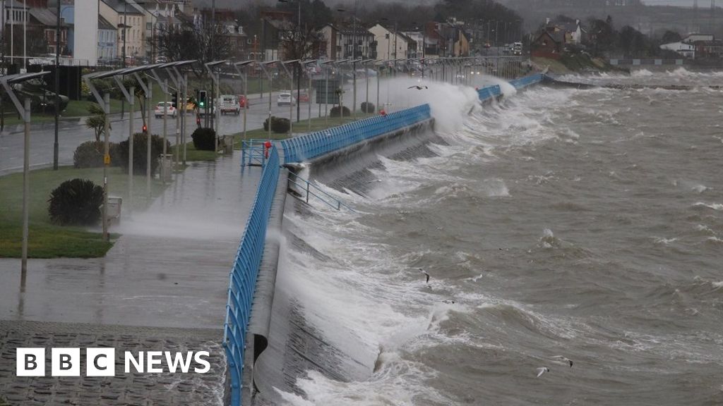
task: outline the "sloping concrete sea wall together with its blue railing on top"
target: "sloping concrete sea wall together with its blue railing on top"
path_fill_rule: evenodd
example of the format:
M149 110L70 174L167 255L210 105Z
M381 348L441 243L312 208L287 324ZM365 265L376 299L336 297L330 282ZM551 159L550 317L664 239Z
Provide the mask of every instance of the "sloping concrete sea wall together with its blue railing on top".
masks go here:
M542 79L542 74L534 74L510 85L522 89ZM477 92L483 103L502 97L499 85ZM287 175L311 163L341 179L344 170L348 176L359 173L369 157L424 156L424 145L438 139L433 125L429 105L419 105L275 142L260 154L262 178L229 276L223 338L228 362L226 404L273 405L278 400L275 389L299 392L296 379L309 369L342 381L371 373L373 366L365 360L328 345L305 322L299 303L278 288L281 240L303 243L282 233L283 212L311 211L286 201Z

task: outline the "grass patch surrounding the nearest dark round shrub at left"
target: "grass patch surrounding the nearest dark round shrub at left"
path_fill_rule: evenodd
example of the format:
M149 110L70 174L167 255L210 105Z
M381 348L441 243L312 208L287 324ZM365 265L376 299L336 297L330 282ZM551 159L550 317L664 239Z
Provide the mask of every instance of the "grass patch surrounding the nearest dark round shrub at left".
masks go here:
M104 256L113 245L103 241L99 228L55 225L48 217L50 192L72 178L90 179L103 184L102 168L76 169L64 166L59 170L40 169L30 172L30 204L27 255L30 258L96 258ZM121 168L108 169L109 194L124 198L127 204L128 175ZM166 186L151 183L150 198L146 194L145 176L134 176L134 210L147 208ZM22 243L22 173L0 177L0 257L20 258Z

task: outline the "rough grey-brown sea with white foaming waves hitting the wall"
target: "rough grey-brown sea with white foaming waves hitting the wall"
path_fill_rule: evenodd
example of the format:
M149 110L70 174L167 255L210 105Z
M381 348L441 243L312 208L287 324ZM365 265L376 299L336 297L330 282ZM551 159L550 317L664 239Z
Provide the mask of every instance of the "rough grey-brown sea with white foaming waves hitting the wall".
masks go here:
M278 284L367 373L283 403L723 404L723 74L565 79L640 86L432 84L421 146L309 170L354 212L289 199Z

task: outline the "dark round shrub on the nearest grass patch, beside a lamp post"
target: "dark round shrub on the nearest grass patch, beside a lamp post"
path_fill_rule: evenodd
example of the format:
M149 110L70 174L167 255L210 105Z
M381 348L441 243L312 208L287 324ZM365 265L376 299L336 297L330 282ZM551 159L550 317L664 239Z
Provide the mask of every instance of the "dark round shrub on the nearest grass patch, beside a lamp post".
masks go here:
M48 214L59 225L94 225L100 219L103 188L87 179L64 181L48 199Z

